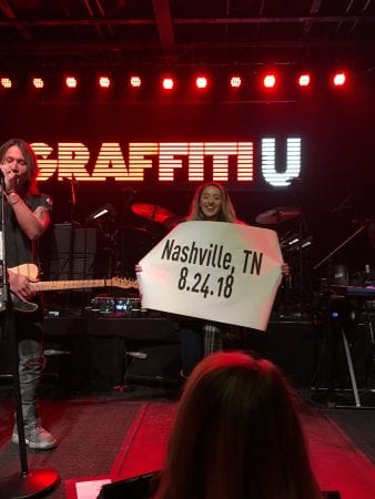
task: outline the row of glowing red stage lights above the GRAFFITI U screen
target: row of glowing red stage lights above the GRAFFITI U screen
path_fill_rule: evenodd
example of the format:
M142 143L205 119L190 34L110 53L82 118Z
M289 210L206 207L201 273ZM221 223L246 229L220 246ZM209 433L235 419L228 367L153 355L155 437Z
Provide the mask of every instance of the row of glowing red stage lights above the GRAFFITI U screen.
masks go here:
M301 88L308 88L312 85L314 79L311 73L305 72L296 77L295 83ZM32 77L30 81L31 85L36 89L43 89L45 86L45 80L41 77ZM194 79L194 85L196 89L207 89L212 83L212 79L204 74L199 74ZM275 72L265 73L260 79L260 85L264 89L275 89L282 83L282 77L278 77ZM330 84L333 86L344 86L347 83L347 74L343 71L333 73L330 75ZM16 82L12 78L2 75L0 77L0 85L3 89L12 89ZM67 89L75 89L80 85L80 80L73 74L67 74L63 77L63 84ZM109 89L113 84L113 79L107 74L101 74L97 77L97 84L101 89ZM141 88L143 84L143 79L139 74L133 74L129 78L129 86ZM160 85L165 91L172 91L178 84L178 79L172 75L161 77ZM241 75L233 74L229 78L229 85L233 89L240 89L245 84L245 81Z

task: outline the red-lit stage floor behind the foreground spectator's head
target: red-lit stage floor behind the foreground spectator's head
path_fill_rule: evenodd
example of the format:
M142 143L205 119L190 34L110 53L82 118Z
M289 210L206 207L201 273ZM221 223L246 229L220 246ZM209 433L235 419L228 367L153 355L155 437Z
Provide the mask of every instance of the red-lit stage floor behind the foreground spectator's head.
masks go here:
M50 452L28 450L30 469L53 467L60 473L60 485L48 497L94 499L100 487L111 482L116 483L118 495L107 497L122 497L123 480L162 466L179 390L133 386L123 393L51 395L44 393L41 411L59 447ZM10 394L1 390L1 396L0 468L4 478L19 469L19 456L10 442ZM322 410L308 400L300 413L321 489L338 491L342 499L374 497L374 413Z

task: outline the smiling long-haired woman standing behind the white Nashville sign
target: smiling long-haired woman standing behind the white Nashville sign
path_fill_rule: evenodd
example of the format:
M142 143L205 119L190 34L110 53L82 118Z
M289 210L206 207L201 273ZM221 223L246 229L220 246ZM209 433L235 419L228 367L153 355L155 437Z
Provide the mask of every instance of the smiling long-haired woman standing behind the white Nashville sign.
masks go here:
M188 221L227 222L243 224L236 217L235 210L227 191L217 182L209 182L199 186L193 196ZM282 265L282 274L288 275L287 264ZM244 328L224 326L219 323L204 322L201 327L183 327L180 329L182 377L186 378L193 367L206 355L223 348L223 333L239 336Z

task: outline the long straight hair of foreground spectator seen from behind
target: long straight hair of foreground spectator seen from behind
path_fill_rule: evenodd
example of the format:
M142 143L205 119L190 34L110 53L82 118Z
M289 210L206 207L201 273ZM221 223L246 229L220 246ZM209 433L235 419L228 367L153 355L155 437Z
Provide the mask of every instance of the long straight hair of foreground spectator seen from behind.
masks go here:
M205 357L184 387L156 499L322 499L295 406L271 361Z

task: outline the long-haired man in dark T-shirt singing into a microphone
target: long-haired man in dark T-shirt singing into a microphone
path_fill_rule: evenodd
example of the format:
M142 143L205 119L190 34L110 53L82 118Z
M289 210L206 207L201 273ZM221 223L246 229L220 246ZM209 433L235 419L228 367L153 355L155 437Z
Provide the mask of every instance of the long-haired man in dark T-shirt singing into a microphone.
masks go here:
M4 192L4 255L8 282L14 299L39 302L33 283L36 276L23 275L17 267L37 263L37 241L50 224L52 202L37 189L37 157L24 141L11 139L0 146L0 170ZM2 306L3 308L3 306ZM16 307L14 307L16 308ZM44 366L42 353L43 308L14 310L14 330L19 350L20 391L26 444L32 449L52 449L55 438L40 424L36 393ZM7 333L7 313L0 314L0 326ZM12 441L19 442L14 425Z

